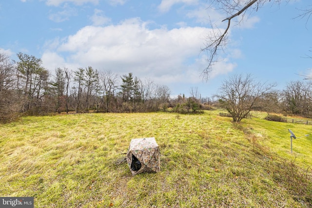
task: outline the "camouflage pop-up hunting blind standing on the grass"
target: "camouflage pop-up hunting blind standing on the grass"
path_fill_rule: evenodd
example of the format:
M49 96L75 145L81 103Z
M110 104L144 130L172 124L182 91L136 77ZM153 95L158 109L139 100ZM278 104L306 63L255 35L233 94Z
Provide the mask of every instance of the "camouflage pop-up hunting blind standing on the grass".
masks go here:
M127 152L132 175L160 171L160 152L155 137L132 139Z

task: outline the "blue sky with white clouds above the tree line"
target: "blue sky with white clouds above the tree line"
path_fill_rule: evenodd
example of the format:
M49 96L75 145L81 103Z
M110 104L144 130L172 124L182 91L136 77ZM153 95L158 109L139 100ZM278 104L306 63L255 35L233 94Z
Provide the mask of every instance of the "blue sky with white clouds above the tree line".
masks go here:
M0 1L0 52L17 60L19 52L41 58L51 73L57 67L92 66L118 75L132 72L167 85L172 95L202 97L217 92L222 80L248 73L262 82L287 82L309 74L312 19L294 19L311 0L266 3L231 28L222 61L209 80L200 53L211 21L225 27L226 16L206 0L3 0Z

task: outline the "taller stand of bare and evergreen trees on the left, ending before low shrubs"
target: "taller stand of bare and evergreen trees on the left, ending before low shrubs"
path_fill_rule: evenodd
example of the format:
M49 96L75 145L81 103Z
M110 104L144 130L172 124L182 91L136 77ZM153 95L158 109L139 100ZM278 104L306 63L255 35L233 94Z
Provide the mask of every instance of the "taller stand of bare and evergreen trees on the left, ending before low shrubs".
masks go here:
M0 119L21 113L150 112L168 105L170 89L132 73L119 76L91 66L76 71L57 68L52 75L41 59L18 53L0 54Z

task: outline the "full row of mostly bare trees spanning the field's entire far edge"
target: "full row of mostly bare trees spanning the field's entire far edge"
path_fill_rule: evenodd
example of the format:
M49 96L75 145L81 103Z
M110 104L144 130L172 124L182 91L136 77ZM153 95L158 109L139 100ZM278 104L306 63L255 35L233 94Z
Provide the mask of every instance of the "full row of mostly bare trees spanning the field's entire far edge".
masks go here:
M0 53L0 121L22 114L92 112L155 112L171 109L198 113L223 108L239 122L252 110L312 117L312 82L292 81L284 90L256 82L251 75L232 76L222 82L218 94L202 97L198 88L190 96L171 97L166 85L140 79L132 73L119 76L91 66L75 71L57 68L52 75L39 58L18 53L11 60Z

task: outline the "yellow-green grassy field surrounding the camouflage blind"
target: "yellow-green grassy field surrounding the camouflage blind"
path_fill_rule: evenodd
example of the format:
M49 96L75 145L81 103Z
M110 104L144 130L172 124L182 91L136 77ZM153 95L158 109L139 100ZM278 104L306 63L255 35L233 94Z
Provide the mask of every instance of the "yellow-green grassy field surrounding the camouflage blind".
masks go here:
M312 126L240 125L217 111L29 116L0 126L0 196L35 208L312 207ZM290 153L291 129L297 136ZM161 171L132 176L132 138L155 137Z

